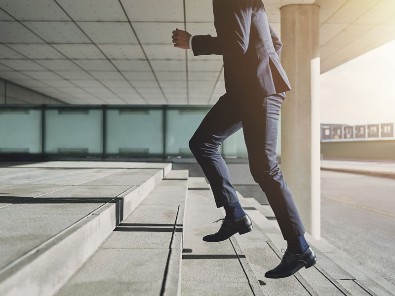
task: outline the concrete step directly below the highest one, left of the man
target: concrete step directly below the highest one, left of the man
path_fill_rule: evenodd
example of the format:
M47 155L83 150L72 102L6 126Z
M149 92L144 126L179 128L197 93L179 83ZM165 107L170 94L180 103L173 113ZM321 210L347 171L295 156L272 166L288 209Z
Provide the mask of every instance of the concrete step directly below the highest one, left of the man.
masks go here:
M170 171L56 295L180 295L187 182Z

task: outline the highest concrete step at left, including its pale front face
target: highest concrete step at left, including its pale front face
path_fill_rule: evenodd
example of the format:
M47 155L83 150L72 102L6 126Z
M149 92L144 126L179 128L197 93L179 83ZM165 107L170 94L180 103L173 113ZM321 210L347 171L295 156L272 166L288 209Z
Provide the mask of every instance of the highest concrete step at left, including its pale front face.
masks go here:
M0 168L0 295L53 294L171 170L68 164Z

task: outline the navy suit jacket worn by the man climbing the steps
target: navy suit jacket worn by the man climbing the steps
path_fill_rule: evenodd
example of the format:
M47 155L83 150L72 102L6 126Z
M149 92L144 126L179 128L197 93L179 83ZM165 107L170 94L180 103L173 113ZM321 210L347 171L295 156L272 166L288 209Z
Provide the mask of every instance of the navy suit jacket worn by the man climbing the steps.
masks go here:
M282 43L268 23L262 0L213 0L217 37L194 35L194 56L224 60L228 94L267 97L291 89L280 63Z

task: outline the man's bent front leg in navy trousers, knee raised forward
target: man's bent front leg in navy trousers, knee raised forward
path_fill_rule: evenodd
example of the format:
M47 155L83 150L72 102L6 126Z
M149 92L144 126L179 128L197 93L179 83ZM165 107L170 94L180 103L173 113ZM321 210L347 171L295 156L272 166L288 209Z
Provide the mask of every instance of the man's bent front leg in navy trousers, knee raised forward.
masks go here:
M211 185L217 208L238 202L218 147L241 128L240 119L235 100L225 93L208 111L189 141L189 147Z

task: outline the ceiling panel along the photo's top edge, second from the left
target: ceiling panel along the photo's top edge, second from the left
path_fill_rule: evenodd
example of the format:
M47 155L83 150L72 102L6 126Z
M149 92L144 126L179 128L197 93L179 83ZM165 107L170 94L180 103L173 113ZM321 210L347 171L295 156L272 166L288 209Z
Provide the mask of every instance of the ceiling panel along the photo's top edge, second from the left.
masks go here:
M126 21L118 0L58 0L75 21Z

